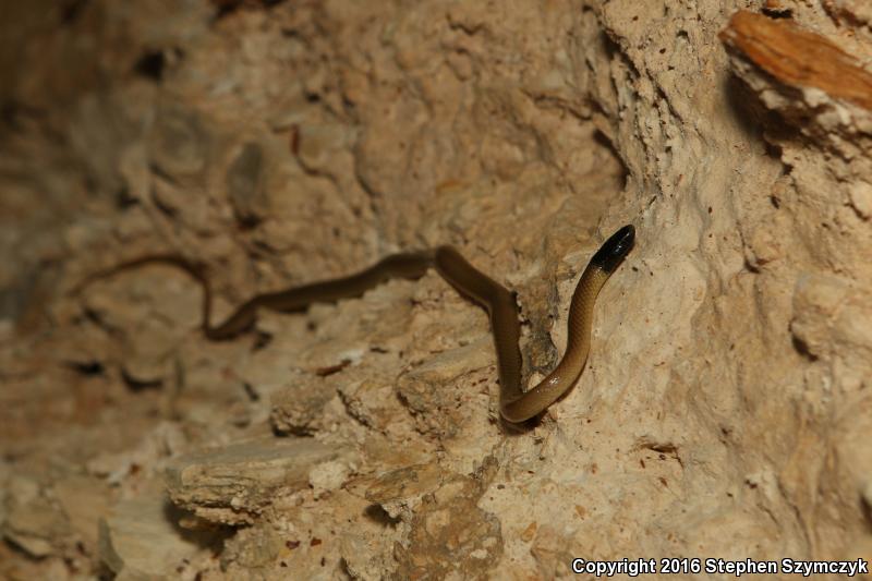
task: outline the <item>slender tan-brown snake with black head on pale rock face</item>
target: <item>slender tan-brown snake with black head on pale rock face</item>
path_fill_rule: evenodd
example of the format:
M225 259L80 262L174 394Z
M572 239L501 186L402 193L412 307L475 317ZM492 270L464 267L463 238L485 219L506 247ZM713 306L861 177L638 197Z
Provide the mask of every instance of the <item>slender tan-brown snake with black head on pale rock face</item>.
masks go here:
M455 247L404 252L386 256L356 274L256 294L238 306L219 325L211 325L213 291L206 267L179 254L155 254L121 263L84 279L92 281L147 264L168 264L181 268L203 288L201 329L213 341L238 337L250 330L261 308L290 313L313 303L336 302L361 296L367 290L395 278L419 279L435 269L461 295L484 307L491 320L499 379L499 412L510 423L519 424L540 415L578 380L591 350L591 328L596 298L606 280L620 266L635 243L635 229L627 225L600 246L584 268L569 303L567 347L555 368L530 389L522 387L519 340L521 325L513 292L472 266Z

